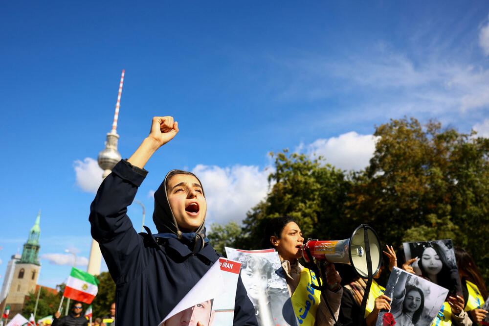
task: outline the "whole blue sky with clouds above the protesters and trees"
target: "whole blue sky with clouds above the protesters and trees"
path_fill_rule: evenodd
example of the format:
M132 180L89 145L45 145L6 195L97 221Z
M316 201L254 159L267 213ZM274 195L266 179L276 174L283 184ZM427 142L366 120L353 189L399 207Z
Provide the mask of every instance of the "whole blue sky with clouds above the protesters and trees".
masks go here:
M375 125L437 118L489 136L487 1L4 1L0 10L0 275L41 214L41 275L89 256L96 160L111 129L129 157L152 116L180 132L136 199L195 171L208 222L241 221L283 148L361 169ZM136 230L141 207L129 208ZM2 279L0 279L2 281Z

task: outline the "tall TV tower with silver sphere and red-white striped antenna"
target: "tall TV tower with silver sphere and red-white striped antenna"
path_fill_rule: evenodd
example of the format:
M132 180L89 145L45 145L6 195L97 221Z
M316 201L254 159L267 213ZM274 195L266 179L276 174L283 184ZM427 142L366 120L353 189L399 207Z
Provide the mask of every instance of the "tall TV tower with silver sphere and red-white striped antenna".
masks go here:
M112 168L121 160L121 155L117 151L117 141L119 135L117 135L117 119L119 118L119 104L121 101L122 84L124 83L124 70L122 70L121 82L119 84L119 95L117 96L117 103L115 104L114 122L112 123L112 130L107 133L107 140L105 142L105 148L98 154L98 165L104 170L102 179L105 179L111 172ZM100 246L98 242L92 239L89 266L87 272L91 275L100 274L100 263L102 261L102 253L100 252Z

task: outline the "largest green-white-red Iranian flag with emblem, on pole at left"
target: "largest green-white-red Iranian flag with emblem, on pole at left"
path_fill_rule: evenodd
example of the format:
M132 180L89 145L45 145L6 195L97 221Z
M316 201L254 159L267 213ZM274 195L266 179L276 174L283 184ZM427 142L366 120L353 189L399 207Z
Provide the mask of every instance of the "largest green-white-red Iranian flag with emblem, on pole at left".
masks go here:
M72 267L63 296L84 303L91 303L97 295L98 279L87 272Z

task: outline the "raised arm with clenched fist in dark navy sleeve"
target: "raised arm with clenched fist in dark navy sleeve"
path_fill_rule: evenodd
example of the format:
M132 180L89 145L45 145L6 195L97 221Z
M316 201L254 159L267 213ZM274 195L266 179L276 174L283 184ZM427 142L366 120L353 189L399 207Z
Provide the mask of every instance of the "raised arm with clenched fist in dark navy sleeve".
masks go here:
M116 284L139 275L145 267L145 256L140 255L144 249L143 240L126 214L127 207L148 173L143 169L144 165L177 132L178 125L173 117L154 117L150 135L127 162L122 160L114 166L90 206L91 234L98 241Z

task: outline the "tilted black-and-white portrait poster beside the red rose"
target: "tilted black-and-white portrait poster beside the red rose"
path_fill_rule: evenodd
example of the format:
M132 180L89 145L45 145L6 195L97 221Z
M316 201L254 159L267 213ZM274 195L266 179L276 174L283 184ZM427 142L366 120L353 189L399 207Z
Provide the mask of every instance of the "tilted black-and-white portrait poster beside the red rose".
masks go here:
M384 294L391 310L381 310L376 326L429 326L445 302L448 290L394 267Z

